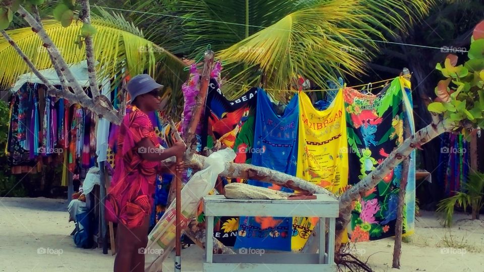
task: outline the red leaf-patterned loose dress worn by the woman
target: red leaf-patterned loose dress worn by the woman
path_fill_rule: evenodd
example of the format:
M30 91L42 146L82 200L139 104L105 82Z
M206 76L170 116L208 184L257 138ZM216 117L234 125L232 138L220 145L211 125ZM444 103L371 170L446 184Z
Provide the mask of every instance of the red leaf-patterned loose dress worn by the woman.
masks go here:
M160 162L143 159L137 144L144 138L160 145L148 115L135 106L119 127L116 162L111 189L106 196L106 218L128 228L143 225L151 215L156 174Z

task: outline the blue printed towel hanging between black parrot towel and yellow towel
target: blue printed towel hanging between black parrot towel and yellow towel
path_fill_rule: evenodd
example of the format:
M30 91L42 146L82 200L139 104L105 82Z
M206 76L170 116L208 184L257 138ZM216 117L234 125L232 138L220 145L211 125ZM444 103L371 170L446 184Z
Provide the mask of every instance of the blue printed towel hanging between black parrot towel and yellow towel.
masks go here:
M239 149L237 156L252 153L252 164L295 176L297 162L297 123L299 98L292 97L282 115L277 115L267 93L259 89L254 148ZM257 180L248 184L292 192L291 189ZM234 218L237 219L237 218ZM224 229L224 226L222 226ZM235 248L253 247L291 250L291 217L240 217Z

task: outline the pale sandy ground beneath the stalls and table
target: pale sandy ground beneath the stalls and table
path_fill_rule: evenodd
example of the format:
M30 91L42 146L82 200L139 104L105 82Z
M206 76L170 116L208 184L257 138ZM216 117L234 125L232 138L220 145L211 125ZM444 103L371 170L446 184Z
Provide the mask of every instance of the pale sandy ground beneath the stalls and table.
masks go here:
M0 271L112 271L110 251L75 247L66 207L62 199L0 199ZM391 238L358 243L353 252L369 257L375 271L484 272L484 220L465 218L456 215L454 226L445 229L433 213L422 212L416 233L403 244L400 270L390 268ZM202 271L202 249L191 246L181 253L183 271ZM173 271L172 257L164 271Z

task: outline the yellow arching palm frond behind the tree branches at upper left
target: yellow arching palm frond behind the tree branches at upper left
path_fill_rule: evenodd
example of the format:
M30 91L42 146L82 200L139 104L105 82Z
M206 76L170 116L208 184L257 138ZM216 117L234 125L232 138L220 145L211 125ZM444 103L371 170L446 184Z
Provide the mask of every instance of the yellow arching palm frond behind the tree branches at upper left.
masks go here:
M43 20L42 23L67 63L76 63L85 59L84 45L79 48L75 44L81 33L81 23L74 22L67 28L54 20ZM183 77L184 62L164 48L145 39L142 31L127 22L123 16L111 15L101 10L100 15L93 15L92 25L97 29L94 36L94 54L99 61L96 66L99 78L111 78L123 70L131 75L145 72L154 75L155 67L160 61L170 68L166 70L167 73L175 73L178 78ZM31 28L9 30L8 33L37 69L52 67L42 41ZM0 57L7 61L6 63L11 63L11 65L4 65L0 70L1 86L11 86L19 75L29 71L21 57L3 38L0 39ZM177 79L170 84L179 86L184 80Z

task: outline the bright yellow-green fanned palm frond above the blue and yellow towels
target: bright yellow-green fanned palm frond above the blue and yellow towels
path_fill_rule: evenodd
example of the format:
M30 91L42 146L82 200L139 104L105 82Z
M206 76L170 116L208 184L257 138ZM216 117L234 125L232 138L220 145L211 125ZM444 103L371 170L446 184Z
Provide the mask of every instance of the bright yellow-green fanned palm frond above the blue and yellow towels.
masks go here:
M361 73L371 57L366 48L376 47L367 37L377 32L364 16L353 13L357 5L354 0L330 2L293 12L222 50L220 57L229 63L260 65L268 87L275 89L287 89L297 75L324 86L336 71Z

